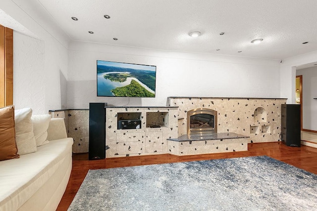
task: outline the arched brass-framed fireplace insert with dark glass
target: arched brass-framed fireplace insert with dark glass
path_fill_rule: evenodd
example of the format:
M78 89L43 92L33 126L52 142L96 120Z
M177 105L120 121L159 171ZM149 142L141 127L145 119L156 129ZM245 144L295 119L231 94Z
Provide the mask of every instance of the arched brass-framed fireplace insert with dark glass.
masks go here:
M217 132L217 111L196 108L187 112L187 134Z

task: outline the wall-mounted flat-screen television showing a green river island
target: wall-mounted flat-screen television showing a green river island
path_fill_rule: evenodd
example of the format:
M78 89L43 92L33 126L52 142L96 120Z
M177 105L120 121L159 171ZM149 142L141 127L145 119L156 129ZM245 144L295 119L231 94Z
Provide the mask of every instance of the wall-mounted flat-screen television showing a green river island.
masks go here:
M97 60L97 96L155 97L156 66Z

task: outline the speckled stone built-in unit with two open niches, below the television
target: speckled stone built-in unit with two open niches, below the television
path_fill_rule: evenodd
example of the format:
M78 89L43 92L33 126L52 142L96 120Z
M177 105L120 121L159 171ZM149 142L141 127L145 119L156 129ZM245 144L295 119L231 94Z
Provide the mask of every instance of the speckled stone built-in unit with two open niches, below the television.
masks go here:
M167 154L177 126L177 107L106 107L106 158Z

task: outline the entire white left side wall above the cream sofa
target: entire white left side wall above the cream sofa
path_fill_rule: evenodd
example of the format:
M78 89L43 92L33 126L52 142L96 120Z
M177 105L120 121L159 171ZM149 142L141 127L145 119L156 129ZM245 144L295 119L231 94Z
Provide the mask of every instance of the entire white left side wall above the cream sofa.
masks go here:
M66 107L67 36L36 14L39 2L14 1L1 0L1 10L31 33L13 33L13 104L33 114Z

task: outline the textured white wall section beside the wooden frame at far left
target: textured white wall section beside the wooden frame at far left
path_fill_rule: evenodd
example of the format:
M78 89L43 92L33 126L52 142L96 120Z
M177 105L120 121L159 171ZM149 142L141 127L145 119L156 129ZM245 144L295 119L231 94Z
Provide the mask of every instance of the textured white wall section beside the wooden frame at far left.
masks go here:
M13 31L13 104L45 112L45 43Z

